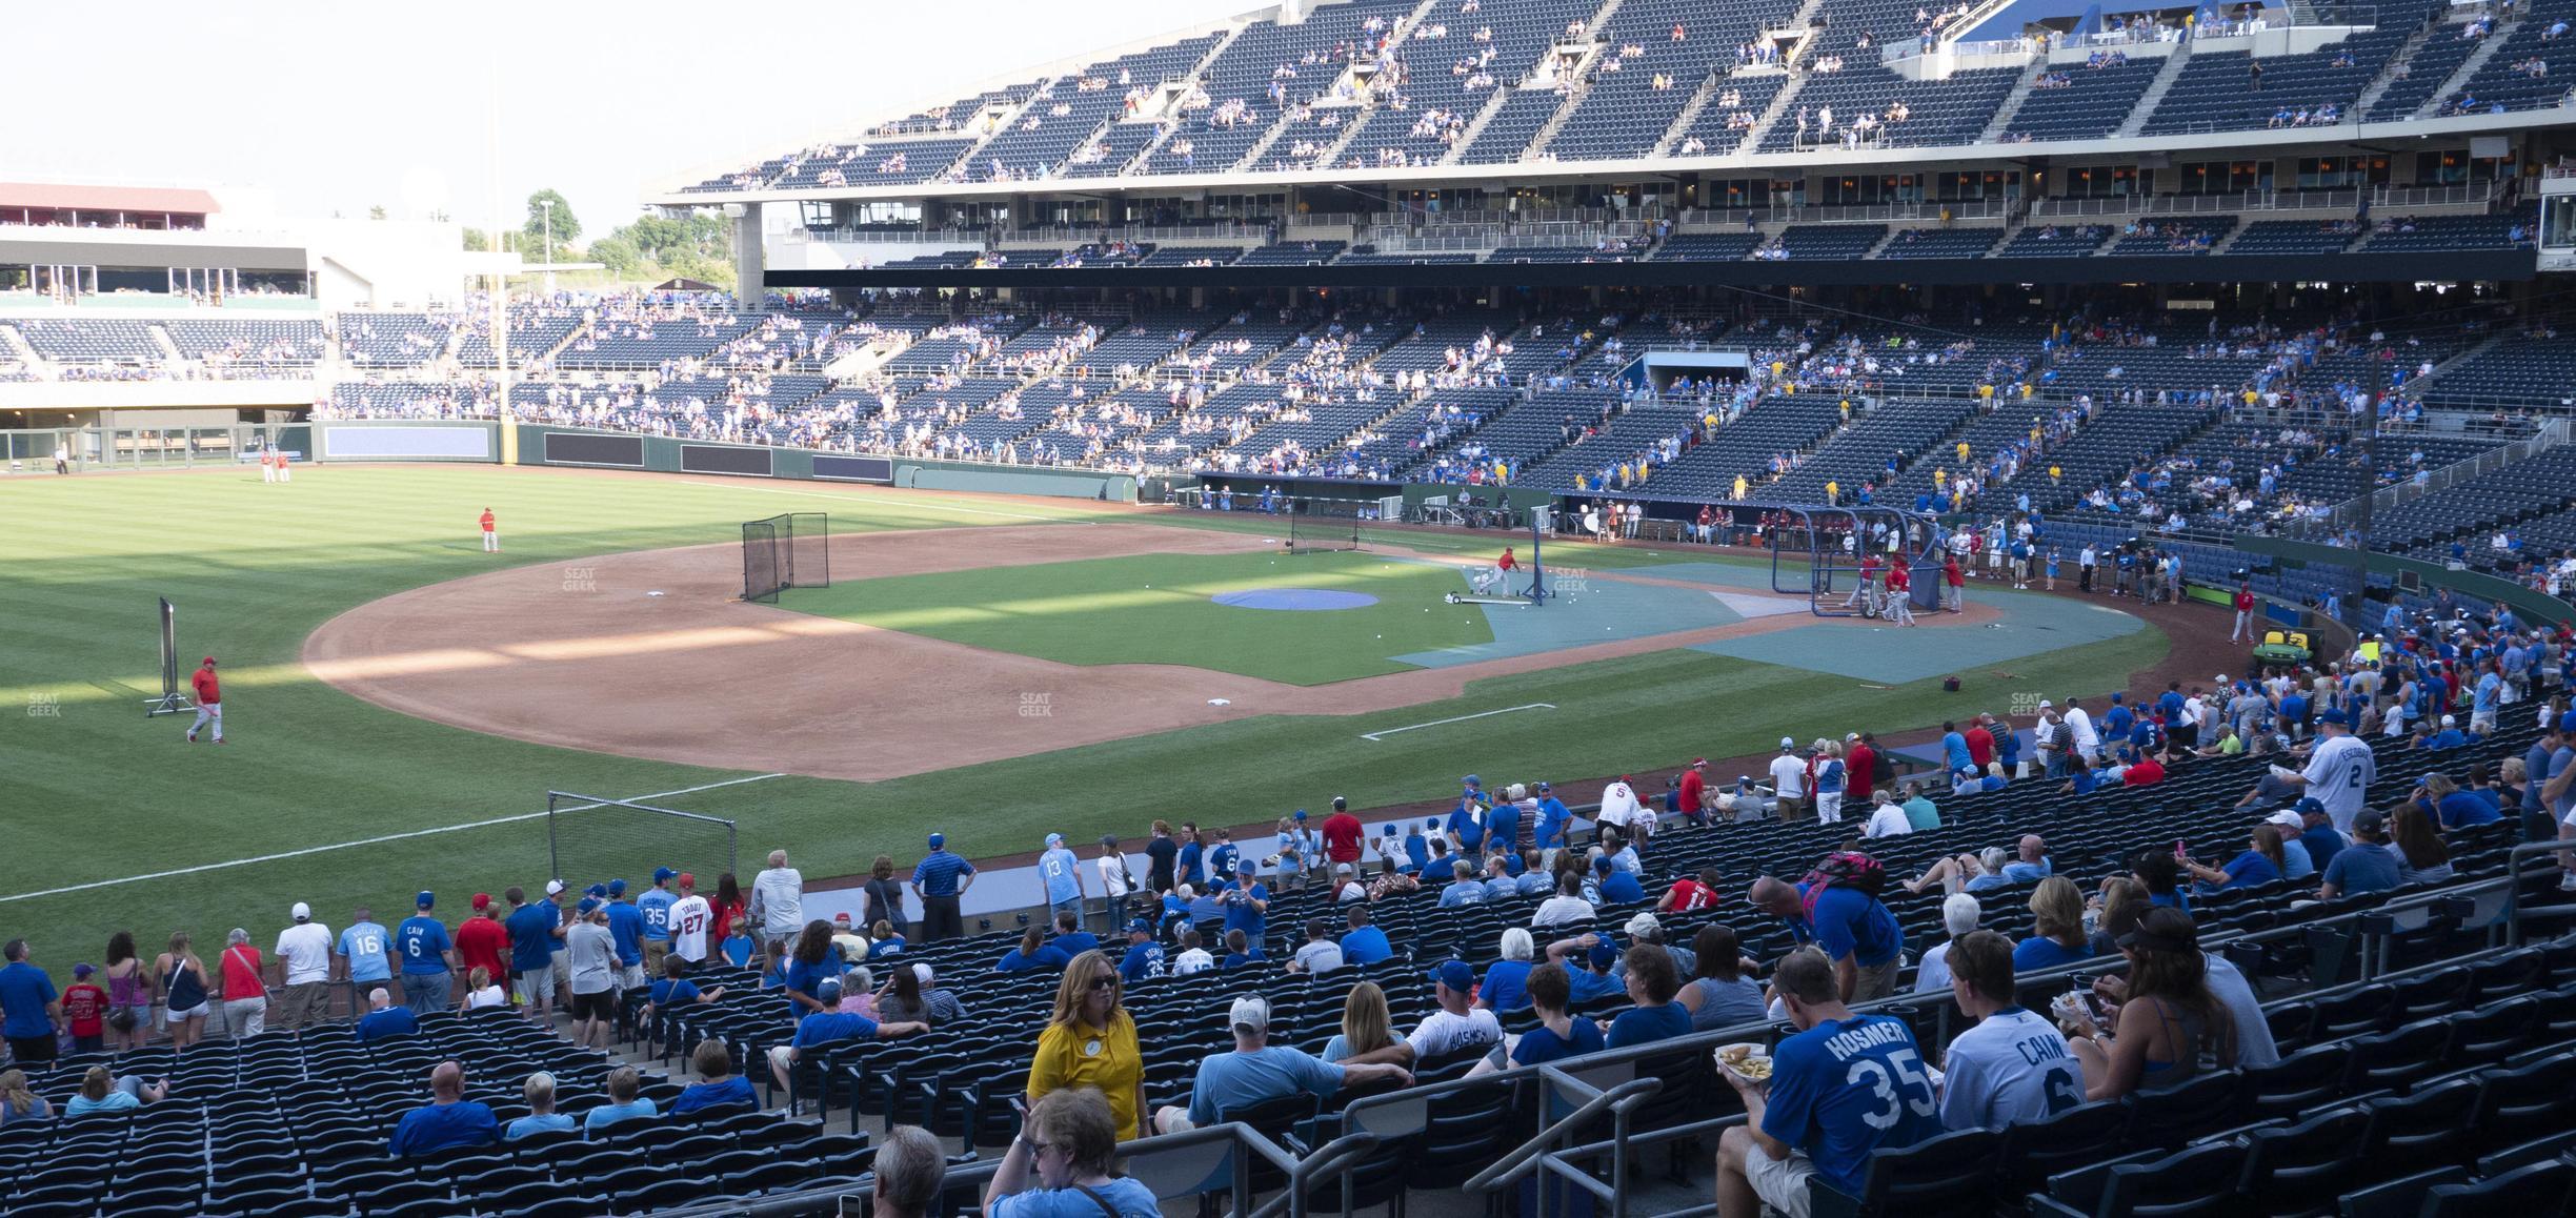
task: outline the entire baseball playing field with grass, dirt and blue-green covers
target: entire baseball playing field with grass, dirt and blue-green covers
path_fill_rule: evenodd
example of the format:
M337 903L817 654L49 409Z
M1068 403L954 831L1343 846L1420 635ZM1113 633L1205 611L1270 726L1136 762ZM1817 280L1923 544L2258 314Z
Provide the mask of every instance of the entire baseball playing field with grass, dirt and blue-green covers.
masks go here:
M835 587L734 603L739 523L786 510L829 512ZM1425 801L1471 770L1662 773L2110 690L2169 646L1986 590L1922 631L1826 623L1752 564L1651 546L1551 546L1558 603L1484 610L1443 592L1499 536L1285 556L1260 518L819 484L28 476L0 520L0 937L54 966L113 930L265 942L294 901L337 924L541 883L546 791L734 819L744 870L786 847L814 881L909 865L933 827L994 857ZM224 747L144 716L155 597L183 667L219 657ZM1981 706L1940 690L1963 667Z

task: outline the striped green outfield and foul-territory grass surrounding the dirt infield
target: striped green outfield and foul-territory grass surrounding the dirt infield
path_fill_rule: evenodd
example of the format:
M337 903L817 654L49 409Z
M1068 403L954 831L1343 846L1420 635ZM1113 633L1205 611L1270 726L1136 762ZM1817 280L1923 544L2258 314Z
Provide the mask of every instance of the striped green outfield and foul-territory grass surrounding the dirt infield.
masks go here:
M487 505L507 543L497 559L474 538L474 515ZM549 788L644 796L750 778L407 718L304 677L296 654L330 615L407 587L497 564L732 541L739 520L781 510L829 510L845 533L1097 512L1077 502L997 507L943 494L884 500L757 482L420 466L304 469L291 487L242 474L0 482L0 520L18 546L0 564L0 832L10 852L0 937L36 940L59 979L72 960L95 960L111 930L134 930L147 945L191 930L204 945L240 924L268 942L291 901L314 901L340 924L353 904L389 912L415 888L438 888L443 912L453 912L471 891L544 878L541 819L28 894L526 816L544 809ZM1461 541L1473 543L1461 546L1471 554L1499 548ZM1654 561L1633 546L1569 548L1587 559L1582 567ZM183 657L211 651L232 672L224 703L234 744L224 749L180 744L185 721L142 716L142 685L155 680L155 595L180 605ZM2032 657L2014 662L2014 688L1981 690L1981 706L2002 708L2022 690L2102 693L2161 654L2164 636L2138 631ZM1358 739L1533 700L1556 711ZM1873 690L1662 651L1494 677L1455 700L1370 716L1247 718L891 783L775 778L657 803L732 816L744 863L783 845L819 878L866 870L878 852L909 863L927 827L945 829L966 855L1023 852L1048 829L1082 839L1136 834L1154 816L1242 824L1334 793L1368 809L1448 793L1471 770L1497 780L1662 773L1692 754L1765 752L1780 734L1896 731L1958 708L1929 680Z

